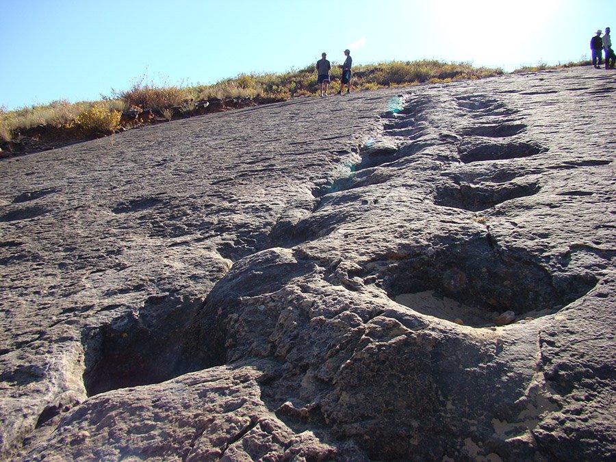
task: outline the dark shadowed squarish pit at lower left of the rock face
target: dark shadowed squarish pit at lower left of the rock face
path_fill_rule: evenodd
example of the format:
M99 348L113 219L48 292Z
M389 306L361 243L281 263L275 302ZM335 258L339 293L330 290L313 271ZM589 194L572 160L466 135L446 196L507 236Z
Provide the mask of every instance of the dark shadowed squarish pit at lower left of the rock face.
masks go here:
M85 331L88 396L222 365L222 348L194 344L194 319L201 307L203 300L151 296L139 313L125 313L110 324Z

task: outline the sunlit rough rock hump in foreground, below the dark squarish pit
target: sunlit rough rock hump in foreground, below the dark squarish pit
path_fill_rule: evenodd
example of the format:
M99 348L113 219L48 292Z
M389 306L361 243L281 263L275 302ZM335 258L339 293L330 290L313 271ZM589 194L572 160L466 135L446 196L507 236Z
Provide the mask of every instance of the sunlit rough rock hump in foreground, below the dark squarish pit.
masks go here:
M259 398L272 365L211 368L165 384L125 388L84 402L49 439L29 452L40 460L74 448L75 460L153 461L329 458L337 454L310 432L294 433ZM115 444L110 444L114 441ZM361 452L351 444L348 454ZM361 460L361 459L360 459Z

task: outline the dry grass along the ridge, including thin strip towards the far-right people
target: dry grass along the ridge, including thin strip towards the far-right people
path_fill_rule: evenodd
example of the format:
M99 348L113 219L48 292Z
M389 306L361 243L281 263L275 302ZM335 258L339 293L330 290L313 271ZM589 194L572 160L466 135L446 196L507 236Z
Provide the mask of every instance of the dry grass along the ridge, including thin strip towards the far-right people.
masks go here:
M339 89L342 75L335 62L332 63L332 82L329 92ZM572 62L552 67L586 65L588 62ZM544 70L550 66L525 66L515 72ZM502 69L476 68L467 63L445 63L436 60L413 62L383 62L353 67L352 88L354 90L376 90L392 86L406 86L422 82L449 82L461 79L480 79L502 74ZM119 114L129 108L153 110L171 120L172 108L179 108L190 114L196 101L211 99L260 99L261 101L284 101L292 97L318 93L317 75L314 64L299 70L282 74L241 74L233 79L224 79L213 85L197 85L180 88L178 86L149 86L141 83L129 90L112 90L112 99L98 102L69 103L65 100L53 101L48 105L33 105L15 111L0 109L0 140L8 142L20 131L31 127L47 125L56 128L73 127L81 114L97 106L101 120L106 114ZM105 110L101 110L101 104ZM97 113L98 114L98 113ZM90 114L91 115L91 114ZM103 117L105 115L105 117ZM116 116L114 116L116 117ZM81 117L84 120L84 116ZM115 119L114 119L115 120ZM109 122L109 124L107 124ZM103 120L103 125L115 127L113 120Z

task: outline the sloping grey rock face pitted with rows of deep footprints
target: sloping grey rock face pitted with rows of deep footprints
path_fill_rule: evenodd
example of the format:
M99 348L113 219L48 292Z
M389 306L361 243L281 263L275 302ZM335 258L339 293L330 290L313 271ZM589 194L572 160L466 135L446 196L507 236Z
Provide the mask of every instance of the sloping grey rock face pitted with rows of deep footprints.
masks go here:
M593 68L2 162L0 458L616 457Z

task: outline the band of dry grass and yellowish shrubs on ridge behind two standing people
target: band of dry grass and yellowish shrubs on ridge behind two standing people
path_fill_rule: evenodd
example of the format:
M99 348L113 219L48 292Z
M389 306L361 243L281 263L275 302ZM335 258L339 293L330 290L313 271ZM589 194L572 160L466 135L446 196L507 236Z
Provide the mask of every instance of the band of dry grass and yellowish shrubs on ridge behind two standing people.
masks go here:
M335 64L335 63L333 63ZM502 69L476 68L467 63L436 60L383 62L353 67L353 90L376 90L424 82L449 82L501 75ZM331 92L339 90L342 70L333 66ZM49 129L63 140L104 136L153 120L171 120L177 114L195 114L199 101L248 100L250 104L285 101L318 93L314 65L281 74L241 74L213 85L151 86L139 82L129 90L112 90L103 101L69 103L53 101L14 111L0 108L0 146L18 145L27 131ZM149 112L149 118L128 118L123 114ZM127 122L129 120L129 122ZM58 135L60 133L60 135ZM40 136L40 135L39 135ZM40 149L38 149L40 150Z

